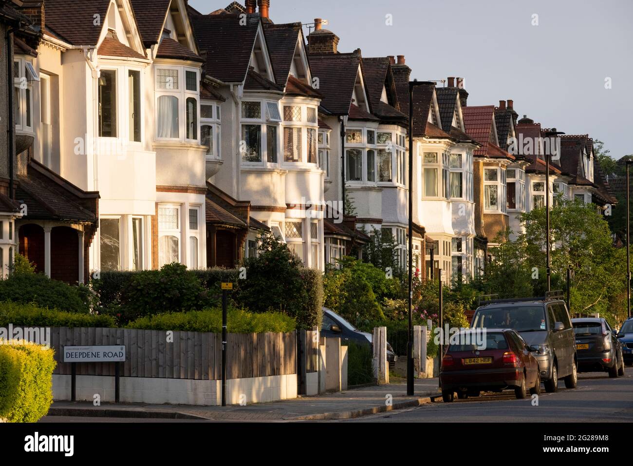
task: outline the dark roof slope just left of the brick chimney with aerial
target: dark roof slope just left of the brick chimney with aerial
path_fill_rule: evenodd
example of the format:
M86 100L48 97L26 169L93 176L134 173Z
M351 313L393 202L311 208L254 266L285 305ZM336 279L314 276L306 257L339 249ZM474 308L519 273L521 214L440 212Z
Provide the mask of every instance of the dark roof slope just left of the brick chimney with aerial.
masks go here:
M273 63L275 81L285 86L299 37L303 38L301 23L265 23L263 27L268 51L270 51L270 61Z

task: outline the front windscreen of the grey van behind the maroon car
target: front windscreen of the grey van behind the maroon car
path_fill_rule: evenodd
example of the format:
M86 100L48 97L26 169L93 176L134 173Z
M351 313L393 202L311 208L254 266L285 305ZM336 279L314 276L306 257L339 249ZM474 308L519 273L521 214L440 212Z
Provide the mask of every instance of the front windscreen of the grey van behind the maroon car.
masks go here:
M513 328L517 332L546 330L543 306L496 306L479 309L473 316L473 328Z

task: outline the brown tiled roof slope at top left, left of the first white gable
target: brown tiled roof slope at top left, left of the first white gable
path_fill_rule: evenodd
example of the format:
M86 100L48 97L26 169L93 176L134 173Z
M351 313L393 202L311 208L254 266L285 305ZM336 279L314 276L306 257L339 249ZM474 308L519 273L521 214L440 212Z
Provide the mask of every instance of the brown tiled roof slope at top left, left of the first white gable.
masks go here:
M109 5L110 0L46 0L46 27L70 44L96 45L101 27L94 25L94 15L100 15L103 24Z

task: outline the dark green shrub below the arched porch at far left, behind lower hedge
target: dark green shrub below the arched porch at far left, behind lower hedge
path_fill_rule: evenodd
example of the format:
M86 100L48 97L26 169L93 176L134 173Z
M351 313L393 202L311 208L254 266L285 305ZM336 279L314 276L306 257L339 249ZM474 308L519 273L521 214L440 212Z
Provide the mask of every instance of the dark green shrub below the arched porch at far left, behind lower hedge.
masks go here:
M0 280L0 301L37 304L50 309L64 309L73 313L88 313L90 304L85 290L43 273L16 269L5 280Z

